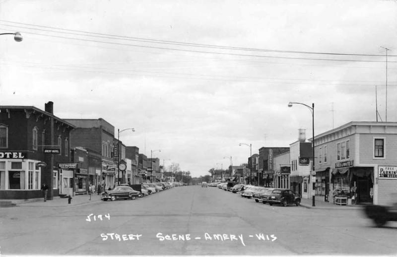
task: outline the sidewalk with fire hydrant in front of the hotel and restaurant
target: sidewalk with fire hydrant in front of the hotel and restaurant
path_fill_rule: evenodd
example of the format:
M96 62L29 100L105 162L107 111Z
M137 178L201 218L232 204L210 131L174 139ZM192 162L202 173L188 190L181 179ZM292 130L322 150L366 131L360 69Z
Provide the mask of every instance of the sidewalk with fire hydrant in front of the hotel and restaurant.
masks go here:
M59 196L54 196L52 200L44 201L43 198L34 198L28 200L12 200L15 206L30 206L30 207L63 207L63 206L76 206L82 204L88 204L92 202L98 202L101 200L101 196L98 194L92 194L91 200L89 194L78 194L72 196L70 204L68 203L68 198L61 198Z

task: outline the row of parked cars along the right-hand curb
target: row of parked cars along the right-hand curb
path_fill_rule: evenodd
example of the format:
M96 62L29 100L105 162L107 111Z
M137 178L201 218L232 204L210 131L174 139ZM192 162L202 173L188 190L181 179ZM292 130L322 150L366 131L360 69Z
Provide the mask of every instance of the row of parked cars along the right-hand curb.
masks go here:
M237 184L236 182L209 183L210 187L218 187L225 191L240 194L241 197L255 199L256 202L268 203L270 205L279 204L287 206L294 204L300 205L301 198L299 193L294 193L290 189L265 188L252 185Z

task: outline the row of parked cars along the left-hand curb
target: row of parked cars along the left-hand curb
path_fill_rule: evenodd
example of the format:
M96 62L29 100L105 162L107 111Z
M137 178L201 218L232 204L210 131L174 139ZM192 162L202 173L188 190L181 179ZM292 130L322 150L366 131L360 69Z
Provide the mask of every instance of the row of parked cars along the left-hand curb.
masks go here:
M101 200L117 200L117 199L136 199L137 197L143 197L145 195L157 193L166 189L179 186L177 184L168 182L158 183L144 183L144 184L121 184L115 187L113 190L107 190L101 193Z

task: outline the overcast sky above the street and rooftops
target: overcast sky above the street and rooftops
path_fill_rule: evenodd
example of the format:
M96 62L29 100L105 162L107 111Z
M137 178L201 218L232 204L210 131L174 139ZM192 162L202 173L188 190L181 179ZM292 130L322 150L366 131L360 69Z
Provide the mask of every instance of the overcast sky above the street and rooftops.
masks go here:
M379 121L387 99L397 122L395 0L0 0L0 33L15 31L0 37L0 105L135 128L120 140L193 176L246 163L239 143L310 138L290 101L315 104L320 134L376 121L377 85Z

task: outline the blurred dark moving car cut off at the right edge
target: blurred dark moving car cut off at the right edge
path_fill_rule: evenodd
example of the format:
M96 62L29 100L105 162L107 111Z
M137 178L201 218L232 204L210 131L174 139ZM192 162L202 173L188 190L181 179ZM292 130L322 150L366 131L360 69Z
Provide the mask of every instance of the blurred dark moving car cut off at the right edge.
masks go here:
M364 212L377 227L382 227L388 221L397 221L397 203L392 206L365 205Z

